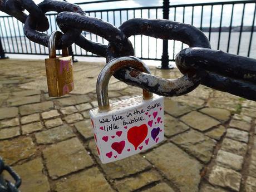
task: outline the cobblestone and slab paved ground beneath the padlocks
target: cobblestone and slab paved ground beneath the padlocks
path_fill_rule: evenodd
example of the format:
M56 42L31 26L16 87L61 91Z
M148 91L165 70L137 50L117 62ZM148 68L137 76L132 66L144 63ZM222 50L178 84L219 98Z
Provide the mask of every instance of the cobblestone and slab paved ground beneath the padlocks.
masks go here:
M23 192L256 191L254 101L204 86L165 98L165 141L101 164L88 110L97 106L102 63L76 63L75 91L61 99L47 96L43 61L0 65L0 155L21 175ZM112 101L141 93L114 79L110 84Z

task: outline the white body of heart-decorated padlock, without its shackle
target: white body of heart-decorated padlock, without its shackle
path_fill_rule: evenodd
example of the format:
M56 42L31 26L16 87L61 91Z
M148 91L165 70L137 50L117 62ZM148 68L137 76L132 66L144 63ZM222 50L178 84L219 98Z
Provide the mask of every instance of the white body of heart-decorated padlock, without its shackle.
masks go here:
M142 95L110 104L110 111L90 111L102 163L124 159L164 140L164 97Z

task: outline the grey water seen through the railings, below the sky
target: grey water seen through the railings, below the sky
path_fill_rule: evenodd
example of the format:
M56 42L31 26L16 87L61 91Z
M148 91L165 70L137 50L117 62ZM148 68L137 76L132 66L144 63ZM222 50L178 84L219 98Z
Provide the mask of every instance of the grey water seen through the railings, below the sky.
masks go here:
M206 37L209 37L209 33L205 33ZM241 56L247 56L248 55L248 48L249 48L249 41L250 41L250 32L243 32L241 36L241 43L240 43L240 49L239 49L239 55ZM87 35L87 38L92 41L98 41L100 43L104 43L107 45L106 40L102 40L99 36L89 36ZM228 32L221 32L220 35L220 46L219 50L222 50L224 52L227 52L228 48ZM214 50L217 50L218 48L218 38L219 33L218 32L212 32L210 37L210 43L211 48ZM152 37L147 36L135 36L129 38L132 44L135 47L135 56L136 57L142 57L142 58L151 58L154 59L161 59L162 56L162 50L163 50L163 41L160 39L155 39ZM24 37L12 37L12 38L2 38L3 48L6 50L6 52L26 52L26 53L35 53L35 54L48 54L48 48L38 45L36 43L33 43L29 41L27 38ZM238 50L238 42L239 42L239 32L232 32L230 36L230 45L229 45L229 53L237 54ZM186 48L185 44L182 46L181 42L175 41L175 47L174 47L174 41L169 41L169 58L173 59L175 58L175 55L182 50L182 48ZM82 50L80 47L73 45L73 51L76 53L76 55L85 56L86 51ZM58 53L58 52L57 52ZM91 53L87 53L88 55L92 55ZM27 58L26 55L20 55L21 58ZM40 58L39 56L37 56ZM35 57L35 58L37 58ZM45 57L45 56L44 56ZM250 49L250 57L256 58L256 32L253 33L252 38L252 45ZM157 63L158 64L158 63ZM157 65L156 64L156 65Z

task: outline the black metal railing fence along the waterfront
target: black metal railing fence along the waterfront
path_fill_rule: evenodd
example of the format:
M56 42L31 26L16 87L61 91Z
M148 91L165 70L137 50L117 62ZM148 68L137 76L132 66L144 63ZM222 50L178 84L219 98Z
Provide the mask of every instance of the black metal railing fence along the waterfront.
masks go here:
M104 2L110 1L77 4L83 8L83 5L88 3ZM205 33L213 49L256 58L255 7L254 0L179 5L171 5L169 0L164 0L163 6L102 9L87 11L87 14L117 27L127 19L138 17L166 18L193 24ZM56 14L47 14L47 17L50 22L47 33L50 34L58 29ZM92 33L83 32L83 35L95 42L105 45L108 43ZM24 36L23 24L11 16L0 17L0 40L4 53L48 55L46 47L31 42ZM136 57L145 60L162 60L165 64L166 60L174 61L176 53L186 47L180 42L163 41L142 35L130 37L130 40L134 45ZM76 45L72 45L72 48L75 56L96 56Z

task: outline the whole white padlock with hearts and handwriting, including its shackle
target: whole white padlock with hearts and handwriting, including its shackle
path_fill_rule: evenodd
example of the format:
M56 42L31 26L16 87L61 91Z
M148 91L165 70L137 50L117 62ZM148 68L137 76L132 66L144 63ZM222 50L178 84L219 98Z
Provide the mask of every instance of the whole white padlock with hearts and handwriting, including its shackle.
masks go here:
M97 80L99 107L90 111L97 151L102 163L124 159L164 140L164 97L143 90L143 95L109 104L110 77L121 68L150 73L136 57L120 57L102 69Z

